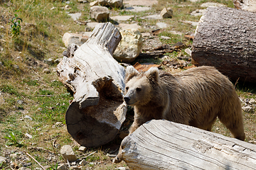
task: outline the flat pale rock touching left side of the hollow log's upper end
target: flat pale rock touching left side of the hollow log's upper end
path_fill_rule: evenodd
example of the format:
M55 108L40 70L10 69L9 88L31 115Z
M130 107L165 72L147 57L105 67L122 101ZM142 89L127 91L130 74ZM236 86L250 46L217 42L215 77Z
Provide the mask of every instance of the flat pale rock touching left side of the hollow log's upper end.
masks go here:
M63 35L63 42L65 47L68 47L71 44L82 45L88 38L88 36L79 33L65 33Z

